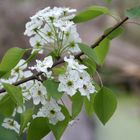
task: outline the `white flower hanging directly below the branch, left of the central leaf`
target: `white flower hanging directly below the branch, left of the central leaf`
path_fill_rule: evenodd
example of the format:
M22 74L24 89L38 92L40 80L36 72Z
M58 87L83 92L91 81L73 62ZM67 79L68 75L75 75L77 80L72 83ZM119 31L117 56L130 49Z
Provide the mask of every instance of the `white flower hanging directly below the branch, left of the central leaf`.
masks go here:
M36 81L34 86L31 87L29 91L31 93L34 105L46 103L47 91L41 82Z

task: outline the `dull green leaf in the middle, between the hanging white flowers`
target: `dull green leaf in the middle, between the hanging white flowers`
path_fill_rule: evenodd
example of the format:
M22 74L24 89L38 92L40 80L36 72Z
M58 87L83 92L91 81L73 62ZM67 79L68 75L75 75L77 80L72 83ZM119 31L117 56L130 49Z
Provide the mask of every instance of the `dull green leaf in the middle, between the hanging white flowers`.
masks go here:
M59 100L63 96L63 93L58 91L59 83L54 80L48 79L43 82L43 85L47 89L48 98L53 97L54 99Z

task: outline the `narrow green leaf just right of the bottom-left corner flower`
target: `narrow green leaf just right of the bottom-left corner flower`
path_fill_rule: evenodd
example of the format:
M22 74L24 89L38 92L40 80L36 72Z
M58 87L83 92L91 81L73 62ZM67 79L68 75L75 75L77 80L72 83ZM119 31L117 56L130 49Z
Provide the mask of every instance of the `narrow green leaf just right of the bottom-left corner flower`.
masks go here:
M23 132L24 128L27 126L28 122L31 121L33 115L33 109L27 109L20 117L20 134Z

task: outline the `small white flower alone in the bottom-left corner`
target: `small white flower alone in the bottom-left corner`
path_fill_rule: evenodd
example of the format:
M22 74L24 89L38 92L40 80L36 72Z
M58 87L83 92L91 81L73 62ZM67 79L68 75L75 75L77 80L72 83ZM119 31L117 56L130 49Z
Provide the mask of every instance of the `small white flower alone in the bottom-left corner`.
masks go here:
M16 133L19 133L19 124L18 122L16 122L15 120L11 119L11 118L5 118L2 126L4 128L10 129L10 130L14 130Z

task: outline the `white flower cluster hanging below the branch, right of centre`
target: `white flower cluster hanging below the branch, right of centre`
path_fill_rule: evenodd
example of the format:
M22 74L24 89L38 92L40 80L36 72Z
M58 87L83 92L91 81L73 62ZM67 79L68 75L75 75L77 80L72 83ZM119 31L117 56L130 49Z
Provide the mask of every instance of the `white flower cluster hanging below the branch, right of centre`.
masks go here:
M90 94L96 92L90 75L85 71L85 65L79 64L74 56L69 58L65 57L64 61L68 63L67 71L65 74L59 75L59 91L73 96L79 91L82 96L87 96L90 100Z

